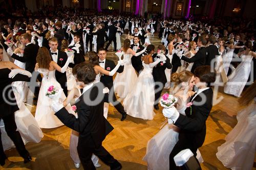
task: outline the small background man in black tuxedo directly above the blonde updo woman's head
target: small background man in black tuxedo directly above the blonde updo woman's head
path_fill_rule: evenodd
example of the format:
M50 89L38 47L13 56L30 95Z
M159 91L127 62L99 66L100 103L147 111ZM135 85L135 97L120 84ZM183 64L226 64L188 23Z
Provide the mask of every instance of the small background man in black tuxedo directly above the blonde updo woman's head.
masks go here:
M183 44L183 40L185 39L185 36L183 34L179 34L177 37L177 43L174 45L175 48L175 53L173 54L173 60L172 60L172 64L173 64L173 69L172 72L176 72L178 67L181 66L181 62L180 62L180 58L178 57L178 53L180 51L182 51L182 46Z

